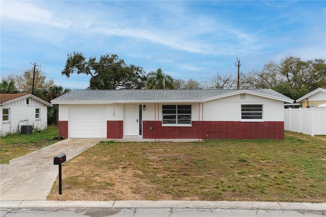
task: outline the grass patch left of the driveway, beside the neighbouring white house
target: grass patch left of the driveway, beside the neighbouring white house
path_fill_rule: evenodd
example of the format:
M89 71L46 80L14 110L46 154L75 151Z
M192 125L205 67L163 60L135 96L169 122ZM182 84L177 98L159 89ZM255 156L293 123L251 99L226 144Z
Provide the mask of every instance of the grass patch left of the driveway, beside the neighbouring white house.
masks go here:
M48 126L44 130L33 130L32 134L8 134L0 138L0 164L41 149L62 140L58 137L58 126Z

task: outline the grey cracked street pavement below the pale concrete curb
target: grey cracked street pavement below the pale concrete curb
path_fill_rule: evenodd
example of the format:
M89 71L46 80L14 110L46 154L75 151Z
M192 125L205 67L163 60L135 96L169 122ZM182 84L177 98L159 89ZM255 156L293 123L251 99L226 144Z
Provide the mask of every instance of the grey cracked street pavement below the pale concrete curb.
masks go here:
M1 217L58 217L58 216L325 216L325 211L270 210L270 209L220 209L220 208L7 208Z

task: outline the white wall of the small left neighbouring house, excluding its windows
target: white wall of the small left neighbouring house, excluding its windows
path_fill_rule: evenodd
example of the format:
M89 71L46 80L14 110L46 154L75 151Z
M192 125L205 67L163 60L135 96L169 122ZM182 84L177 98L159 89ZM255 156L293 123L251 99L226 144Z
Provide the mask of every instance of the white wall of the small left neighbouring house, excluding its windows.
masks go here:
M9 108L9 121L2 121L3 108ZM40 118L35 118L35 109L40 108ZM29 98L13 101L1 106L1 135L21 131L21 125L33 125L34 129L45 129L47 127L47 106L43 103Z

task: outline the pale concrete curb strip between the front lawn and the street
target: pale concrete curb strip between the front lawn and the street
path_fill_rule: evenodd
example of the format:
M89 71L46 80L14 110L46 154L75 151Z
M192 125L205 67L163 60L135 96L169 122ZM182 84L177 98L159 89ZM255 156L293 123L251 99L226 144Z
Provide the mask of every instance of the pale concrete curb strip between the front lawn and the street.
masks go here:
M220 208L265 210L326 211L326 203L288 203L256 201L0 201L1 208Z

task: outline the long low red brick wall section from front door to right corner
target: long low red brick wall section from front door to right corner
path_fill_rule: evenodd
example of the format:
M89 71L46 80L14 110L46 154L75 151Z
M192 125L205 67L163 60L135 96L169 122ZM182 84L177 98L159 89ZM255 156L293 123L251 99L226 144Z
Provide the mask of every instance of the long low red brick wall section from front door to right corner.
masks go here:
M191 127L143 121L144 139L284 139L283 121L193 121ZM152 129L150 129L152 127Z

